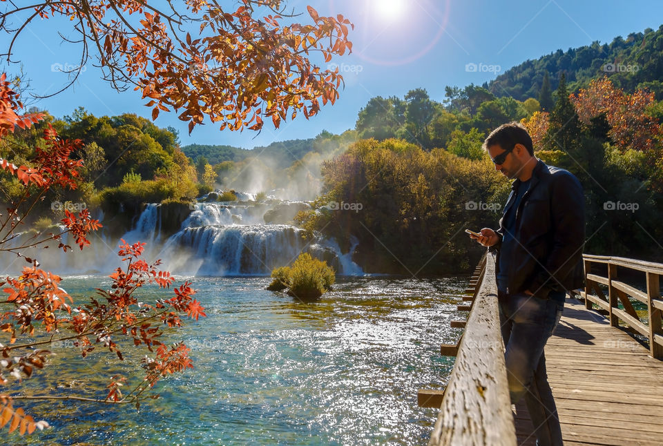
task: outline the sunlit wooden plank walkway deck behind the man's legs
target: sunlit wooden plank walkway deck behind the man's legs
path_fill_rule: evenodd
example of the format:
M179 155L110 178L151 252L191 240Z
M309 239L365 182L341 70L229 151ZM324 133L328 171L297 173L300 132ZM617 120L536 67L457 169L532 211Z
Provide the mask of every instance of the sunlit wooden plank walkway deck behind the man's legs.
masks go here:
M564 445L663 445L663 361L608 319L567 298L546 345ZM517 444L535 445L524 403Z

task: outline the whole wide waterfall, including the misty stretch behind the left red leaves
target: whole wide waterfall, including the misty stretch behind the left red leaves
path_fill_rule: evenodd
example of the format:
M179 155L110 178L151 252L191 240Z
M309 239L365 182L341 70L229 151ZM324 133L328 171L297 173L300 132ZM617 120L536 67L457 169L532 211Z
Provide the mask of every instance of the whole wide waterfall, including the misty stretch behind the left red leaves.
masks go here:
M276 199L259 203L198 203L188 216L182 215L182 225L177 229L173 222L162 221L167 214L161 205L151 203L133 228L120 238L130 244L146 243L145 260L161 259L162 268L174 274L269 275L273 269L291 264L300 253L307 252L325 260L338 274L363 275L351 259L356 243L349 253L343 254L334 240L319 235L307 240L303 229L283 224L305 207L310 209L304 202ZM269 213L269 224L265 223L266 213ZM166 229L168 227L171 229ZM168 237L164 231L171 231L172 235ZM72 245L74 252L48 249L46 253L39 253L40 261L46 260L42 263L46 263L48 269L65 274L106 274L120 266L119 238L114 240L99 233L88 238L92 246L81 252L74 240L65 235L62 242ZM19 266L23 265L17 261L12 269Z

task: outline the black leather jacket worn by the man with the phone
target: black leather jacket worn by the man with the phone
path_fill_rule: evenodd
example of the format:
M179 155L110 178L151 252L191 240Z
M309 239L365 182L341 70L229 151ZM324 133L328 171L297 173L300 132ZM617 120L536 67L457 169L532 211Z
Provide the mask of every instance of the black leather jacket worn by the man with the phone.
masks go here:
M511 185L504 214L513 205L520 180ZM499 220L499 242L504 235ZM539 159L528 191L516 211L515 243L508 262L508 294L529 290L547 298L548 292L577 289L584 285L582 249L585 241L585 197L582 185L570 172L547 166Z

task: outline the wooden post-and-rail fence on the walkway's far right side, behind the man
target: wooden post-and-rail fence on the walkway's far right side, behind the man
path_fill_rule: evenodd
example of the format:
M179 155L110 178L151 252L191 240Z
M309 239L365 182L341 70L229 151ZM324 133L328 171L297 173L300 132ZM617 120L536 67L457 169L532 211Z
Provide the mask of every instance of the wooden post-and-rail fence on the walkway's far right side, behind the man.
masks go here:
M648 338L649 351L653 358L663 359L663 330L661 328L663 300L660 295L660 276L663 275L663 264L604 255L585 254L583 258L585 290L579 294L585 300L585 307L592 309L592 304L596 304L599 308L606 310L612 327L619 327L621 320L628 327ZM607 276L593 273L593 264L604 264L607 267ZM644 273L646 291L617 280L617 267ZM599 284L608 287L607 296L599 288ZM646 323L642 322L640 316L637 315L629 298L646 304ZM622 302L623 309L619 308L619 302Z

